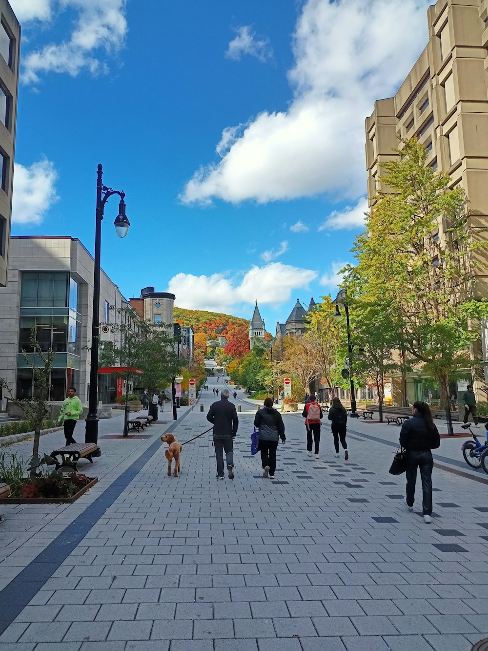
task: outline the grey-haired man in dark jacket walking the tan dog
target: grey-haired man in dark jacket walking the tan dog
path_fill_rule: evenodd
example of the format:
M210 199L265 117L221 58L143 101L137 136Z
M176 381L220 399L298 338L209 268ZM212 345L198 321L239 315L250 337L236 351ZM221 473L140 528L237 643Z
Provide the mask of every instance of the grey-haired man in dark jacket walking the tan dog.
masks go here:
M221 399L218 402L213 402L207 414L207 420L213 423L217 479L224 478L223 450L225 450L229 479L234 479L234 439L236 438L239 420L237 419L236 406L229 402L229 395L228 389L222 389Z

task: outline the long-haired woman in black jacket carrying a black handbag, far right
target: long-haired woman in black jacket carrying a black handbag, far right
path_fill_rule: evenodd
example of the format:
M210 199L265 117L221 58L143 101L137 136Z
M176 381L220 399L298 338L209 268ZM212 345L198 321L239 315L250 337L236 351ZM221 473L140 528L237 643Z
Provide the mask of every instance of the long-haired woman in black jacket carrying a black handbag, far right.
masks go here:
M431 450L441 445L441 437L432 420L429 406L425 402L414 402L412 417L401 426L400 445L407 450L407 495L403 506L413 511L417 468L422 480L422 513L424 521L432 521L432 468L434 460Z

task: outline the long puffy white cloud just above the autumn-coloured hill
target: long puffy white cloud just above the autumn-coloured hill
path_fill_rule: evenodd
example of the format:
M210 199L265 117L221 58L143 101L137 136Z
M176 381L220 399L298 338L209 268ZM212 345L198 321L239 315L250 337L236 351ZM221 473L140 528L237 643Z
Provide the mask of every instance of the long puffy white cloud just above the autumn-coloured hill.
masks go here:
M271 262L263 267L253 266L243 276L178 273L170 279L168 291L175 294L180 307L228 312L239 303L254 305L254 299L260 305L286 303L292 291L308 290L308 284L317 275L310 269Z

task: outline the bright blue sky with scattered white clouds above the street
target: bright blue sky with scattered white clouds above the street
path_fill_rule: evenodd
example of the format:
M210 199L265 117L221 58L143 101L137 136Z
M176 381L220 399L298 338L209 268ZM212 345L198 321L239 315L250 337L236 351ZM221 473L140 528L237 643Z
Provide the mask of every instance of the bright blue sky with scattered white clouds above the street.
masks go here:
M125 296L251 318L335 295L366 210L364 118L426 0L10 0L22 27L12 234L94 241ZM399 25L402 29L399 30Z

